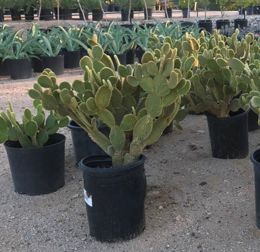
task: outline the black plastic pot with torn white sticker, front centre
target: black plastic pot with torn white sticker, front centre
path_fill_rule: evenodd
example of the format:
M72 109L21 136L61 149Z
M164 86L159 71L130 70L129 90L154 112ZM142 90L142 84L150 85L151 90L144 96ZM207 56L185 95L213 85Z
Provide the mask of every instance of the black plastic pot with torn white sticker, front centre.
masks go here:
M80 161L90 234L97 240L127 240L145 229L145 160L141 155L139 161L122 167L111 167L108 156Z

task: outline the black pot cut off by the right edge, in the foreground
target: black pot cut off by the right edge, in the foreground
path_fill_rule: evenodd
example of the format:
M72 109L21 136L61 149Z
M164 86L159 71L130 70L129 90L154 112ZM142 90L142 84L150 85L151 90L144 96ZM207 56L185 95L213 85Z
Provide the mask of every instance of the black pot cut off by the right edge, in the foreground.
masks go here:
M254 165L255 223L260 229L260 149L256 149L250 159Z

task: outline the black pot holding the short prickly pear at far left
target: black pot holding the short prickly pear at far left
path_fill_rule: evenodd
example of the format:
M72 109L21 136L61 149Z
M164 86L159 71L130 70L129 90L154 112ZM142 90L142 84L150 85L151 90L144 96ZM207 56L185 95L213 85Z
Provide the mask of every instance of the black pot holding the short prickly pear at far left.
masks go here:
M22 148L18 141L4 143L15 192L40 195L64 186L65 139L56 133L49 136L43 147L37 148Z

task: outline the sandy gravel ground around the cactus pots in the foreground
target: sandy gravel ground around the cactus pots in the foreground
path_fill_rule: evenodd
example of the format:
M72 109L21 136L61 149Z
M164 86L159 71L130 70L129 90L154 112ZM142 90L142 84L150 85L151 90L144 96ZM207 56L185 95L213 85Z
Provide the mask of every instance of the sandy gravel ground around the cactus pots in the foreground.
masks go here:
M58 82L82 79L81 70L65 71ZM26 94L36 80L0 79L0 110L11 99L20 118L32 107ZM0 145L0 251L14 252L161 252L259 251L255 226L254 177L249 156L242 160L211 157L207 120L188 115L183 131L174 129L146 149L148 192L146 230L125 242L100 243L90 236L82 172L75 165L70 131L66 135L66 184L41 196L14 192L10 168ZM249 133L249 153L260 144ZM205 183L201 183L205 182Z

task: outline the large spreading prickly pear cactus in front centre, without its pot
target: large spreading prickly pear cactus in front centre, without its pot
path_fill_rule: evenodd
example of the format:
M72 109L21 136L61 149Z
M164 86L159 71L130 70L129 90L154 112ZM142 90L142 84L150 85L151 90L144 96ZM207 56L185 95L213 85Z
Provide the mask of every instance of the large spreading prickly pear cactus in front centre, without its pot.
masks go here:
M117 74L96 35L88 43L89 57L80 60L83 81L53 83L54 77L45 70L37 88L28 93L41 100L44 109L72 118L112 157L113 166L134 163L177 115L181 96L190 88L185 77L192 77L194 57L182 66L177 49L166 42L161 49L146 52L134 69L120 65L115 56ZM99 121L110 128L109 138L98 131Z

